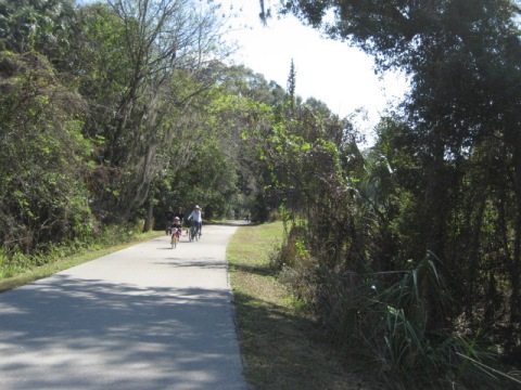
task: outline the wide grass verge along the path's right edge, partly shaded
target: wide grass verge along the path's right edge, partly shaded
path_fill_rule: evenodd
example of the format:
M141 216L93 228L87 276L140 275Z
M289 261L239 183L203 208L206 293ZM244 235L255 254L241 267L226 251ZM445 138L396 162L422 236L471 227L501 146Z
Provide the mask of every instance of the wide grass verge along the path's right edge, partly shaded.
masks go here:
M228 245L230 283L246 380L260 389L369 389L343 367L313 318L294 309L269 266L282 223L238 229Z

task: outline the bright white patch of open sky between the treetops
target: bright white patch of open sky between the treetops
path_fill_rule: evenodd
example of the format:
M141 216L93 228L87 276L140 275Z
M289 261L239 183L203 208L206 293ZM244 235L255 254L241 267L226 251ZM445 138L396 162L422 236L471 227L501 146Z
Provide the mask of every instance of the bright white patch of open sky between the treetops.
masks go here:
M304 26L294 16L280 20L274 13L267 26L263 26L258 0L221 0L221 3L224 10L232 4L238 12L232 21L234 26L249 27L229 32L230 39L241 47L234 56L237 63L285 89L293 60L296 94L304 100L313 96L325 102L340 117L365 108L369 114L369 121L361 125L366 132L371 131L387 102L396 101L406 91L403 76L389 74L381 79L374 74L370 56L345 42L321 38L319 31Z

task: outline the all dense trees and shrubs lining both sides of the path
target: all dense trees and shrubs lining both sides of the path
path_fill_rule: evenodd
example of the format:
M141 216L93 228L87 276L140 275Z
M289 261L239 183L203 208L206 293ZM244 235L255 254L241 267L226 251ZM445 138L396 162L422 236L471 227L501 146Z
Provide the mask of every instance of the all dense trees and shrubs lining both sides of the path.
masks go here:
M521 353L518 1L283 10L408 75L370 150L294 64L228 65L213 1L0 2L0 276L169 207L279 214L274 265L389 387L516 386L474 362Z

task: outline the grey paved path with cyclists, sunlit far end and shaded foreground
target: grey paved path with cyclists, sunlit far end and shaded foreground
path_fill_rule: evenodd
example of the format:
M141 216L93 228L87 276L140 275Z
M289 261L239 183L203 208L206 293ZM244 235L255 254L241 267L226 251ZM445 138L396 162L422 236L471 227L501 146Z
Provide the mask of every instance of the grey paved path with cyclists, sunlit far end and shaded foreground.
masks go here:
M226 246L164 235L0 294L0 389L246 389Z

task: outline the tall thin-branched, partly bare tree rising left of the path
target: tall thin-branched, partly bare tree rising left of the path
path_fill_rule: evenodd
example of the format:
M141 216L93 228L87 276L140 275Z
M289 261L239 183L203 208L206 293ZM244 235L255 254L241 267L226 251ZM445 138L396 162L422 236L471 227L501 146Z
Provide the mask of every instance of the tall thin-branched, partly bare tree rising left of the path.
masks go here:
M96 113L86 133L101 141L96 206L117 222L148 198L162 169L157 148L173 139L179 120L174 113L208 88L203 70L226 46L219 46L221 21L212 4L122 0L86 6L82 14L80 48L91 54L78 67L94 70L81 77ZM179 88L187 81L190 89Z

